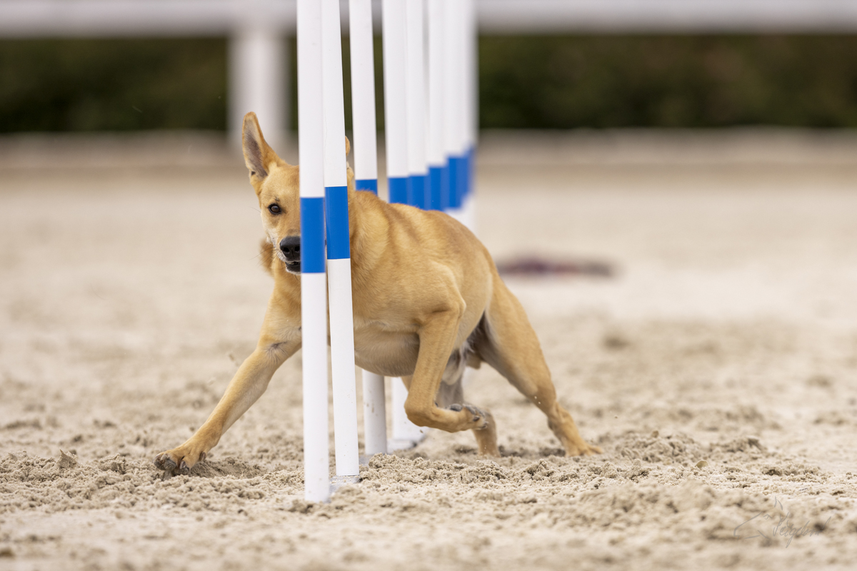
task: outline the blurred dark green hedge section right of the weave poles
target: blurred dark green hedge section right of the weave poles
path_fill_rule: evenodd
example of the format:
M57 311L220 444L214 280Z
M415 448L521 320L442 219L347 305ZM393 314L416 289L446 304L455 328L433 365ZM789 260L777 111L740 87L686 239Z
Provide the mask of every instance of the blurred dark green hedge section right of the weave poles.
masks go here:
M857 127L854 36L486 38L480 64L485 127Z

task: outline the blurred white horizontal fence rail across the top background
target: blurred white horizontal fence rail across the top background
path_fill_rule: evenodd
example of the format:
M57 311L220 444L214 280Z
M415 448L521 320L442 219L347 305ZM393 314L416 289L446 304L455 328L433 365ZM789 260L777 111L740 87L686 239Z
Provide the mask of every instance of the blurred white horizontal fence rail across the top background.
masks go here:
M348 2L340 15L347 29ZM381 0L373 0L375 27ZM0 0L0 37L223 35L295 30L295 0ZM857 29L854 0L476 0L483 33Z

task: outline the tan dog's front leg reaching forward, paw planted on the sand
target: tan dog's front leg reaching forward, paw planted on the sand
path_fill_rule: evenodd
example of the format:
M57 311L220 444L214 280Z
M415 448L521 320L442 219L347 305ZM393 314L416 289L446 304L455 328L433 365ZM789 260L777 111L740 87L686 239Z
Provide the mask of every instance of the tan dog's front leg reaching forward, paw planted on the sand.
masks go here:
M295 354L300 342L260 342L226 387L217 407L194 436L178 448L155 456L155 465L174 473L189 473L243 413L262 396L273 373Z

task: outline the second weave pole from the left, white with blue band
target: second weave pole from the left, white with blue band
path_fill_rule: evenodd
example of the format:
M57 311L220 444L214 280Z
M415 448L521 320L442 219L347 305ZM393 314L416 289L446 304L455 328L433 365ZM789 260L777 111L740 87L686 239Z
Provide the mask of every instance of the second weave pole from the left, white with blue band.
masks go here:
M321 0L321 16L333 438L336 475L338 482L343 483L359 479L360 459L357 452L357 387L354 377L354 314L351 307L351 242L339 0Z

